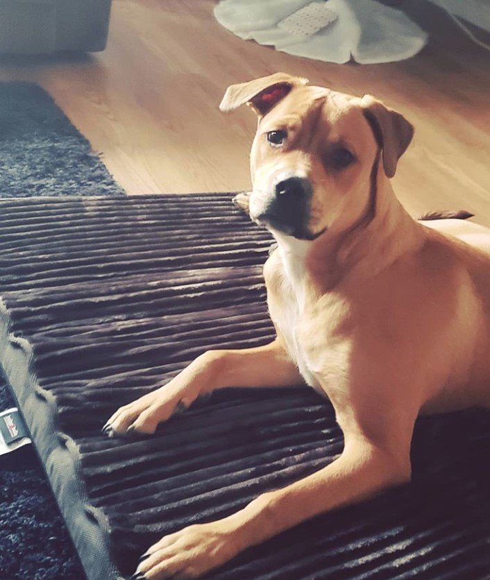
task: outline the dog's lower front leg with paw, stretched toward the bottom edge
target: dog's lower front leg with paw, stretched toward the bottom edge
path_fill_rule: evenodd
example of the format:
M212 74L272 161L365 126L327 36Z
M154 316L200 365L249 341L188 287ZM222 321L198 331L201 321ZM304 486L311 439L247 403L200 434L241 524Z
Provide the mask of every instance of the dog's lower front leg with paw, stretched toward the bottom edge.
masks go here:
M363 500L409 477L409 443L407 449L398 450L394 456L368 441L346 440L339 459L318 472L260 495L228 518L192 525L165 536L144 554L135 577L199 577L247 547L303 520Z

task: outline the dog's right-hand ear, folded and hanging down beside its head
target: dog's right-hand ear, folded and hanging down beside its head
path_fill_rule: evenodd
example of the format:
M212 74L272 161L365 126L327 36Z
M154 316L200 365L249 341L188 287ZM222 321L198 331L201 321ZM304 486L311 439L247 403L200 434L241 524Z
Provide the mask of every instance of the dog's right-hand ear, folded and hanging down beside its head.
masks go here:
M361 102L364 117L382 149L385 173L391 178L395 175L398 160L412 141L414 127L403 114L387 108L370 94L364 95Z

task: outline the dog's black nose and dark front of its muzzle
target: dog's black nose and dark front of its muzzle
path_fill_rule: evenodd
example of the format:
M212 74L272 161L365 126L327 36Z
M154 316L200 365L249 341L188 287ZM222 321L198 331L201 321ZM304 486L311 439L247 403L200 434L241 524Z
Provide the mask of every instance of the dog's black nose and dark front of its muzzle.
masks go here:
M311 239L307 225L312 195L312 184L306 178L289 177L281 180L255 220L283 234L298 239Z

